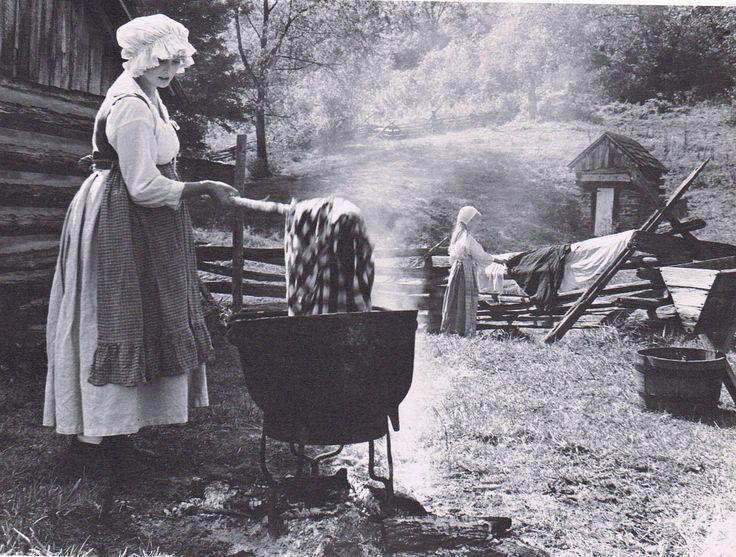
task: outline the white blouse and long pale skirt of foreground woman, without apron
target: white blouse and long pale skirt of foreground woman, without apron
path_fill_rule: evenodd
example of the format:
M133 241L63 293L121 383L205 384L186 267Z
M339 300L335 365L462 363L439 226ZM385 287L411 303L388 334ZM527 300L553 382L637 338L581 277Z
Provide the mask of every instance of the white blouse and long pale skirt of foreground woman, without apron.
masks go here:
M113 105L126 94L142 96L146 103L128 97ZM171 162L179 140L156 96L158 106L124 72L110 87L100 112L109 112L107 139L118 153L133 202L176 208L184 185L162 176L156 165ZM49 300L43 424L62 434L122 435L149 425L184 423L190 406L209 403L204 365L135 387L87 382L97 346L97 217L108 173L93 173L72 200Z

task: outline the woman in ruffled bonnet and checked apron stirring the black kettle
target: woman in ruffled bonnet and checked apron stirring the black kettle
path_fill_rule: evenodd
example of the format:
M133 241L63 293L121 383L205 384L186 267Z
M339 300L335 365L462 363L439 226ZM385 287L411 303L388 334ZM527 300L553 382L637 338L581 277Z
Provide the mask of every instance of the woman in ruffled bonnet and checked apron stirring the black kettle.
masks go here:
M124 71L95 119L94 172L68 209L49 301L43 423L76 454L134 447L141 427L184 423L207 406L212 345L189 213L237 190L178 179L176 123L158 94L194 61L189 32L165 15L117 31Z

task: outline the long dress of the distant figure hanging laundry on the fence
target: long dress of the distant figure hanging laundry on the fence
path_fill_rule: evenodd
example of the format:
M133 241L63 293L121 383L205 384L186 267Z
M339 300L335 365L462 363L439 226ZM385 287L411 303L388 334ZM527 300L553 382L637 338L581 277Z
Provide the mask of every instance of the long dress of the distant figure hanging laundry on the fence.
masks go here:
M493 258L467 232L461 232L448 251L452 267L442 302L440 331L472 336L478 311L478 273Z

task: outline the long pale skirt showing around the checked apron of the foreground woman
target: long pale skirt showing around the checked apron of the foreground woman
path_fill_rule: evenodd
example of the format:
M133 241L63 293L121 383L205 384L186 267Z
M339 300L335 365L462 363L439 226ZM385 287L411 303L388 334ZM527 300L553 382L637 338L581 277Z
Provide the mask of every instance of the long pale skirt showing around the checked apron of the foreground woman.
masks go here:
M90 176L69 207L51 288L43 425L63 434L135 433L184 423L190 407L208 405L204 364L135 387L87 381L97 346L97 216L108 172Z

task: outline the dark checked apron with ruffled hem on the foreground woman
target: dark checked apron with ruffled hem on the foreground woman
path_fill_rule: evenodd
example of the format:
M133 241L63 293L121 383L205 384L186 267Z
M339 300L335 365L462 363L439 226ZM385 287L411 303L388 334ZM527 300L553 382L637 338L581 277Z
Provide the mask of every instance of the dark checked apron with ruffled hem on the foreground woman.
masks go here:
M178 179L173 163L161 173ZM113 164L97 239L97 350L89 382L133 386L195 369L212 353L185 203L130 200Z

